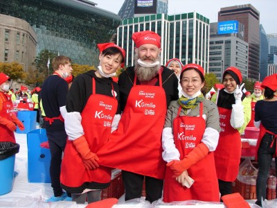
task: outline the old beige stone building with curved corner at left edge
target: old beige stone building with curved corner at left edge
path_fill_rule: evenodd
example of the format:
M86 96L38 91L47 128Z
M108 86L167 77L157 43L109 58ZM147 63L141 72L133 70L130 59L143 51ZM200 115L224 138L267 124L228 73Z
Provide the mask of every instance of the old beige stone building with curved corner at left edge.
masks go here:
M18 62L31 69L36 46L37 35L27 21L0 14L0 62Z

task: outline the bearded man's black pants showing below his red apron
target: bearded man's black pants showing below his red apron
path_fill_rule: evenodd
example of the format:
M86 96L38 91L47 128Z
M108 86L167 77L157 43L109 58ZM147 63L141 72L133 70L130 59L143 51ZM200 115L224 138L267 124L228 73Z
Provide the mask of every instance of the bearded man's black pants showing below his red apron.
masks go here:
M122 171L122 178L125 187L125 200L141 198L144 175ZM145 176L145 192L145 200L151 203L159 200L163 192L163 180Z

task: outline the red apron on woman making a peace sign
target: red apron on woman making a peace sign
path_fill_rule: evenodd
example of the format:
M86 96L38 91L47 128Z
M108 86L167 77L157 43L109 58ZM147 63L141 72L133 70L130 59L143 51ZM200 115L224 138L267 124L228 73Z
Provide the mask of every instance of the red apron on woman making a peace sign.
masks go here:
M226 182L233 182L238 175L242 141L240 132L231 126L231 112L218 107L220 112L220 139L215 150L215 168L217 178Z

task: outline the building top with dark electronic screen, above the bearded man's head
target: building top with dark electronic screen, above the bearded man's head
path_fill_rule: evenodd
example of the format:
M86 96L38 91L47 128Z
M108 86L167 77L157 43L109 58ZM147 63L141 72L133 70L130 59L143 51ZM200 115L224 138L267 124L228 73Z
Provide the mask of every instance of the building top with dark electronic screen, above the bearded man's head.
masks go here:
M149 8L151 9L149 10ZM161 13L168 14L168 0L125 0L118 15L121 19L128 19Z

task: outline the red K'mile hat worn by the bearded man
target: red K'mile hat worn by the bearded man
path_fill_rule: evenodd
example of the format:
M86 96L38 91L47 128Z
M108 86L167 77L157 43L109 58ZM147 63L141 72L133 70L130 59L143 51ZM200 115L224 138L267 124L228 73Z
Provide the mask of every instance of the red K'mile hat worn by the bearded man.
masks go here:
M132 39L136 44L136 48L143 44L154 44L158 48L161 48L161 37L152 31L142 31L133 33Z

